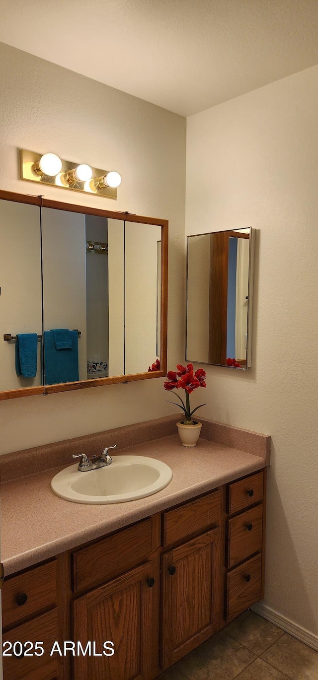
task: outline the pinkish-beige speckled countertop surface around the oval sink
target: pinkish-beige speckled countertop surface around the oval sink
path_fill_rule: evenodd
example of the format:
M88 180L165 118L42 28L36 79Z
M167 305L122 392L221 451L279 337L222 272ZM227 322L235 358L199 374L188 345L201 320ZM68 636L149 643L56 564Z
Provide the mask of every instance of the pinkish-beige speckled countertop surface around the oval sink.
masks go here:
M265 457L206 439L187 449L178 435L131 446L125 454L162 460L172 469L172 481L153 496L112 505L70 503L55 496L50 481L65 466L1 485L5 576L266 466Z

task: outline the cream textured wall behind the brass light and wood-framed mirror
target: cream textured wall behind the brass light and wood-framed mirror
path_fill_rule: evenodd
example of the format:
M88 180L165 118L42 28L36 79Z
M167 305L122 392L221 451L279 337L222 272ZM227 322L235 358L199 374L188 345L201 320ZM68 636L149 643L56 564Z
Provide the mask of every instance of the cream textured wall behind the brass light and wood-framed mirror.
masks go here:
M48 198L170 221L170 364L183 351L185 314L185 118L0 44L0 188L18 180L17 148L116 169L117 201L42 187ZM10 330L10 329L9 329ZM138 381L0 403L0 452L76 437L171 413L163 380Z

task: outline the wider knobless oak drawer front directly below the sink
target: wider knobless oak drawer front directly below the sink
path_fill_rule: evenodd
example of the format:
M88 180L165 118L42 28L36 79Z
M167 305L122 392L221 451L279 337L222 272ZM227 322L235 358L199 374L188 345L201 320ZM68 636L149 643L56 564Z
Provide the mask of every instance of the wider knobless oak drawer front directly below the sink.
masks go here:
M74 552L73 591L106 583L145 562L160 545L154 520L150 517Z

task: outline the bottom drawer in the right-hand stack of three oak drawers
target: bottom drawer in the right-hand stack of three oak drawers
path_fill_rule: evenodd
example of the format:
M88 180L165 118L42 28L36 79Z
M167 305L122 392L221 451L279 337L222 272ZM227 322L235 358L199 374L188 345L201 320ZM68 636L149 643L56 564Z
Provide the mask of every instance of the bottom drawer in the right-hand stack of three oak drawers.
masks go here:
M225 619L230 621L261 598L261 554L227 574Z

